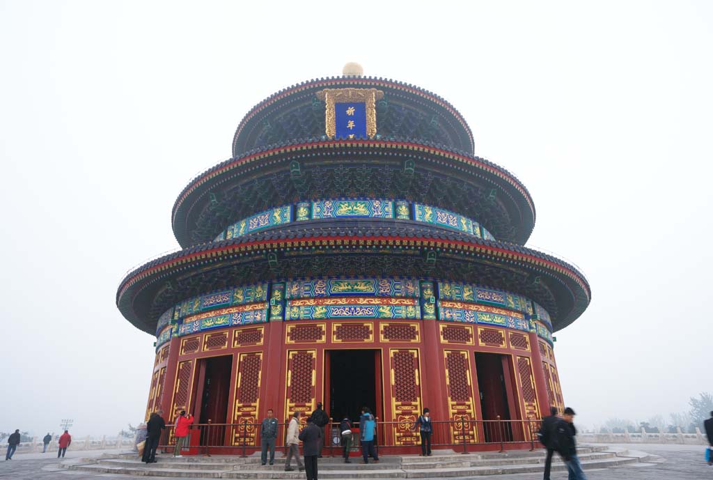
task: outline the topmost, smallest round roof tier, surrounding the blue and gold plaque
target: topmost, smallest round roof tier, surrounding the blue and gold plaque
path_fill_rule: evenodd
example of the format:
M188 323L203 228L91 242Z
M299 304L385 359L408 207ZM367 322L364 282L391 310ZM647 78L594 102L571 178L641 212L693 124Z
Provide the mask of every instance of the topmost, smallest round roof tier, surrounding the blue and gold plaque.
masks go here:
M337 88L374 88L379 92L376 133L381 137L414 138L473 153L468 123L443 98L399 81L343 76L302 82L258 103L237 127L232 155L298 138L326 138L326 101L320 92Z

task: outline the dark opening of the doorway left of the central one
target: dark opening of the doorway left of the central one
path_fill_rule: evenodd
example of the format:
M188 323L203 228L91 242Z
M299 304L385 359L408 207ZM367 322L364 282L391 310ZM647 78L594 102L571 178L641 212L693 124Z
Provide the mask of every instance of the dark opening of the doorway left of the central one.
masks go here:
M201 359L199 373L202 374L200 392L200 415L196 415L202 424L210 419L212 424L225 424L227 419L227 402L230 397L230 374L232 356ZM200 377L199 377L200 382Z

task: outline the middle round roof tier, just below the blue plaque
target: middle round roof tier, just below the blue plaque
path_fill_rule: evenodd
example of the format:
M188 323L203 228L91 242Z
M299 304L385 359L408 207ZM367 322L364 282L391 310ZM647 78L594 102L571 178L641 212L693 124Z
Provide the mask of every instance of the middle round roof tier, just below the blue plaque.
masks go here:
M409 200L476 219L520 245L535 206L525 186L488 160L429 142L305 139L226 160L191 180L173 206L183 247L214 240L250 215L304 200Z

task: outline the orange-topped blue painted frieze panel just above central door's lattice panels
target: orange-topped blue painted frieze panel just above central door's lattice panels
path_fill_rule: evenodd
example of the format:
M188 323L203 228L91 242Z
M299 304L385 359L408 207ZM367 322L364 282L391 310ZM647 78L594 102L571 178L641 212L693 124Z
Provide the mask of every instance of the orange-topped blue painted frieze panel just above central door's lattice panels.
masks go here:
M288 300L284 320L323 320L327 318L418 319L419 300L415 298L330 297Z

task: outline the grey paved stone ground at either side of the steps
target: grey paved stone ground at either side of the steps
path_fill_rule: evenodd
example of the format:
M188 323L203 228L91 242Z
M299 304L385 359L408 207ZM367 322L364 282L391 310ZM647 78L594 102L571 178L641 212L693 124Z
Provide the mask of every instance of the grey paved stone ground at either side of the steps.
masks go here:
M622 466L615 469L588 470L585 473L589 480L696 480L713 479L713 466L704 461L704 446L702 445L658 445L658 444L613 444L617 448L626 447L632 450L647 451L650 454L666 459L661 464L637 464ZM4 449L2 450L4 453ZM103 451L67 451L66 459L86 458L101 454L116 454L116 450ZM0 461L0 479L13 480L140 480L158 477L91 474L82 471L67 471L61 469L56 454L16 454L11 461ZM497 480L540 480L542 474L513 474L502 476L482 476L480 479ZM567 479L567 473L557 471L552 474L553 480ZM160 477L160 480L171 480ZM178 479L176 479L178 480ZM185 479L183 479L185 480Z

